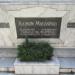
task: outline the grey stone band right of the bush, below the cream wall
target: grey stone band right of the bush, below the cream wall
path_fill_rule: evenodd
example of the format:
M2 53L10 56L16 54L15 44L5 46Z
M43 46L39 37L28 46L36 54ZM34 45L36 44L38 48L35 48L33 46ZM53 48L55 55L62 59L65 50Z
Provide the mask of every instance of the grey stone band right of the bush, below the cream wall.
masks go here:
M75 48L55 48L54 56L56 57L75 57Z

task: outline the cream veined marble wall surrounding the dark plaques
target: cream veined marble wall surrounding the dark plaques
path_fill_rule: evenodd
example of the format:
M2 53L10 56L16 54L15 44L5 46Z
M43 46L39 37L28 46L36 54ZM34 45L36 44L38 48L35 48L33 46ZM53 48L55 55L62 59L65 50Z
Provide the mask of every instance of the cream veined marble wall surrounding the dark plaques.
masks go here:
M9 6L8 6L9 7ZM0 28L0 48L15 48L24 39L17 39L15 17L62 17L60 37L33 39L36 41L48 41L52 46L60 47L75 47L75 29L67 28L67 23L74 21L75 6L64 5L57 6L12 6L1 7L0 22L9 23L10 28ZM14 8L13 8L14 7ZM12 8L12 9L11 9ZM16 9L17 8L17 9Z

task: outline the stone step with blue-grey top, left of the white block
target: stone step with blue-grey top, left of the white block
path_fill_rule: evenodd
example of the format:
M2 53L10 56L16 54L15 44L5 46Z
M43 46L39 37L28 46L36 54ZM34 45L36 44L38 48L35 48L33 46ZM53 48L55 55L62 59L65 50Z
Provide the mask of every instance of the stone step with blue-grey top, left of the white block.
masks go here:
M14 72L14 61L12 57L1 57L0 58L0 72Z

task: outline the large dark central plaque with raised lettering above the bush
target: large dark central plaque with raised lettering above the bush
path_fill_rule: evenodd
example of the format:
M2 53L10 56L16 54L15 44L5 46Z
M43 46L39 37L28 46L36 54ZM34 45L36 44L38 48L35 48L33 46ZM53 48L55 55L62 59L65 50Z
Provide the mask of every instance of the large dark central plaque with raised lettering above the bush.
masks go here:
M59 38L61 18L15 18L17 37Z

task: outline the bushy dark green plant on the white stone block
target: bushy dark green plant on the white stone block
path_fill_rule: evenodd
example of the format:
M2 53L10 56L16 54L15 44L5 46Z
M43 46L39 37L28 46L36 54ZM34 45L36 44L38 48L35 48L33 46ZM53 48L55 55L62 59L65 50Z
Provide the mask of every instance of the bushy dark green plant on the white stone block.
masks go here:
M17 49L20 61L46 61L53 56L53 48L49 43L29 42L28 38Z

